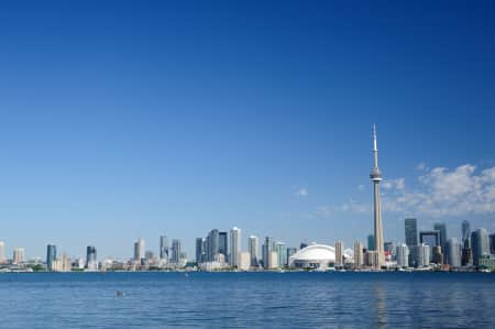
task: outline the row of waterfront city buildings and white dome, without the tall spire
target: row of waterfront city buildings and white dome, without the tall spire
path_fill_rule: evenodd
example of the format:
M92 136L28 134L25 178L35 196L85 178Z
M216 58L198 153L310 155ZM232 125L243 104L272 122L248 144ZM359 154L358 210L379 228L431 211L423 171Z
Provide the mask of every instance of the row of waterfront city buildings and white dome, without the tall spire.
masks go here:
M376 149L376 147L375 147ZM376 162L375 162L376 163ZM376 168L376 166L375 166ZM374 171L376 173L376 171ZM380 206L378 206L380 208ZM375 218L376 224L376 218ZM45 261L25 257L23 248L14 248L12 259L4 254L4 242L0 241L0 263L2 272L9 271L260 271L264 270L304 270L312 267L318 271L355 270L355 271L486 271L495 268L495 233L485 228L470 231L471 223L463 221L462 238L448 233L443 222L436 222L433 230L417 231L417 219L404 220L406 243L386 241L382 248L386 251L380 260L373 234L367 237L367 246L359 239L353 250L344 249L342 241L334 246L321 243L300 243L300 248L265 237L260 259L260 239L250 235L248 250L240 243L241 229L234 227L227 232L211 230L207 238L196 239L196 255L191 262L182 250L182 242L172 240L168 248L167 238L160 237L160 252L146 250L145 241L139 238L134 242L134 252L129 259L98 259L97 248L87 246L86 257L70 257L67 253L57 253L55 244L46 245ZM418 238L419 237L419 243ZM230 243L229 243L230 242ZM230 245L230 248L228 246ZM193 266L194 265L194 266ZM34 270L35 268L35 270Z

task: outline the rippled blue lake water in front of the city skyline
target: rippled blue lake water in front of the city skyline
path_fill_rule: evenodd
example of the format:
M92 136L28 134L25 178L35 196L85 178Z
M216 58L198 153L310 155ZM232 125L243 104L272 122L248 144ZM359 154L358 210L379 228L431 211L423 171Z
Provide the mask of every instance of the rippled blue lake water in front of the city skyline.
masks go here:
M0 309L0 328L495 328L495 275L4 273Z

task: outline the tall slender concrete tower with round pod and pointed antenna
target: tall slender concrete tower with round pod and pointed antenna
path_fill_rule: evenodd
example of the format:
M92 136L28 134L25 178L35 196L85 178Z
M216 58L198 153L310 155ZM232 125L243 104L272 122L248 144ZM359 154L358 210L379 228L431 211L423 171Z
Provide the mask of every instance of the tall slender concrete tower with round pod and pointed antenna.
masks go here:
M376 125L373 124L373 171L370 178L373 182L373 205L375 219L375 251L378 254L377 267L382 267L385 263L385 253L383 250L383 227L382 227L382 200L380 199L380 182L382 182L382 173L378 169L378 149L376 146Z

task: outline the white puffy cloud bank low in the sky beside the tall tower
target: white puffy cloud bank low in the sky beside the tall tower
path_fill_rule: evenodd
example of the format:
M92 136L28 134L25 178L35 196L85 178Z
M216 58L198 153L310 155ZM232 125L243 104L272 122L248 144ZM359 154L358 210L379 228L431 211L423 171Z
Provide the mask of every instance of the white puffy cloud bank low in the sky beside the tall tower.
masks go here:
M495 167L480 171L471 164L454 169L429 169L425 166L421 174L415 188L406 187L405 178L384 179L383 211L433 218L495 213ZM370 201L358 202L350 199L341 206L324 206L332 210L324 213L364 213L372 210L371 206Z

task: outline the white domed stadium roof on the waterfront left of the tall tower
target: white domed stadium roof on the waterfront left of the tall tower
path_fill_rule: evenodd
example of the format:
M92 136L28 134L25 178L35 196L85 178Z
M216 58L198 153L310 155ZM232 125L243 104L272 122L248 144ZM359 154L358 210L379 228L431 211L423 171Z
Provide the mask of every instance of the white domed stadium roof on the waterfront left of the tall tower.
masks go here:
M298 268L327 268L334 263L336 249L327 244L308 245L289 257L289 266Z

